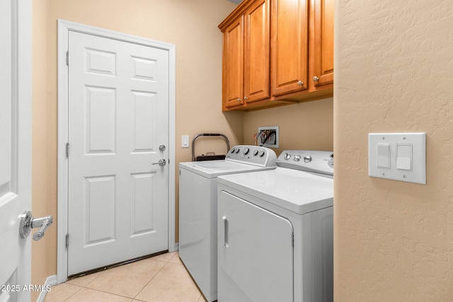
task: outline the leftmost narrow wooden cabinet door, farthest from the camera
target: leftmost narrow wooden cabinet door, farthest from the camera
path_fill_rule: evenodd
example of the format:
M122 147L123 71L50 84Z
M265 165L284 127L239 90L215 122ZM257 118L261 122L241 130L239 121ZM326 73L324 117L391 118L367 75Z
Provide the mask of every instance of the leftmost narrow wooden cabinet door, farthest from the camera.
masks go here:
M222 110L243 105L243 16L224 31Z

